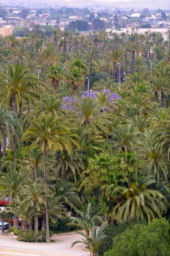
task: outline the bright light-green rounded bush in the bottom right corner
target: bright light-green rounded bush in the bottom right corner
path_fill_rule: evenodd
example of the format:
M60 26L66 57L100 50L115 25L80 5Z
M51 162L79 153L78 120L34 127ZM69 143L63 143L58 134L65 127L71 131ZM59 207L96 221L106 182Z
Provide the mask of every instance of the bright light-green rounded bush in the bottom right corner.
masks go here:
M170 256L170 225L164 218L127 228L104 256Z

